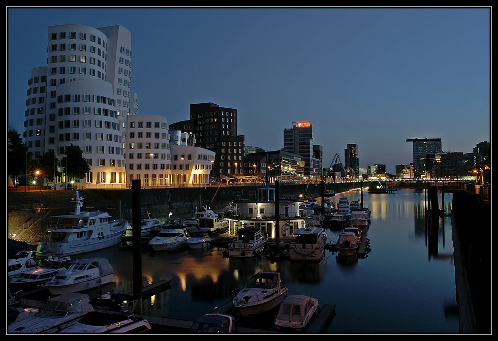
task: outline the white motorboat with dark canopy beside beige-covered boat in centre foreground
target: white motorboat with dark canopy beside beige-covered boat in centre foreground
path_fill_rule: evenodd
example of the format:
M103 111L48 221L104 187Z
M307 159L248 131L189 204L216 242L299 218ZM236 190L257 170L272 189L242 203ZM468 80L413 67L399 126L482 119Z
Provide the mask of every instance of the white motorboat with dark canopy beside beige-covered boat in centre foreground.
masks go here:
M279 272L261 271L250 278L232 303L242 316L261 314L282 303L288 291Z

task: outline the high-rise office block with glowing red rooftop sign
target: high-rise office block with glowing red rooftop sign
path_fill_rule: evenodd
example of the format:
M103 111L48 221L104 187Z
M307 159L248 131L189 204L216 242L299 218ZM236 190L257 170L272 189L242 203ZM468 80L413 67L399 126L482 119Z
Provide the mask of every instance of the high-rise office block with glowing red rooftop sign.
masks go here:
M315 158L319 150L314 150L315 127L311 122L293 122L292 128L284 129L284 151L297 154L304 161L304 176L316 180L322 176L321 160Z

